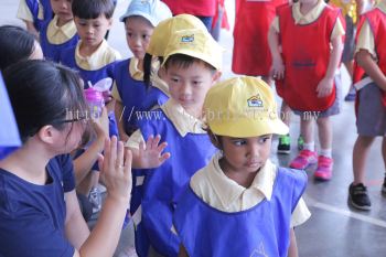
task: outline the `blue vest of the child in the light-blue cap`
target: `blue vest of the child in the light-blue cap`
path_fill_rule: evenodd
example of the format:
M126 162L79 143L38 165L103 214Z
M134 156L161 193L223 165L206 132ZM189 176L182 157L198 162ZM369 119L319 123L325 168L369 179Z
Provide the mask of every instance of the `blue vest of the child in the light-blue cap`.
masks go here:
M150 110L153 106L161 106L168 100L168 96L160 89L152 86L147 88L143 81L132 78L129 66L130 58L117 63L115 67L117 89L125 106L122 117L127 135L138 129L137 111Z

